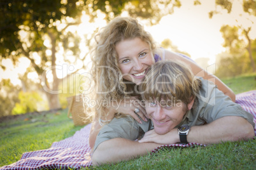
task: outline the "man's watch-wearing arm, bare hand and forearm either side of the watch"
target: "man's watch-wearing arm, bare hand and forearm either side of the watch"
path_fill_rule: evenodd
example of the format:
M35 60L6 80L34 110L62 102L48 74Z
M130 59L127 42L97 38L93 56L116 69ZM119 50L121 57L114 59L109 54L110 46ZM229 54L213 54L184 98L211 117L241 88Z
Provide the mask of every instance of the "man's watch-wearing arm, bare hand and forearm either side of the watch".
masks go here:
M225 116L217 119L210 124L202 126L192 126L187 135L189 143L221 143L222 141L238 141L254 138L254 130L252 124L243 117ZM173 129L169 133L160 135L152 131L148 131L139 141L155 142L162 144L173 144L180 142L178 129Z

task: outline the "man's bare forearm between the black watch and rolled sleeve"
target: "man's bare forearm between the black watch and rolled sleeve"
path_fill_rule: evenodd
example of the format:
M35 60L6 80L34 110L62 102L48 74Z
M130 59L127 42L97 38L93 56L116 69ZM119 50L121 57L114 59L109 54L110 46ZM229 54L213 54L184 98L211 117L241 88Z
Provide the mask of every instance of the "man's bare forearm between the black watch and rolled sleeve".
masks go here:
M243 117L227 116L204 126L193 126L187 141L194 143L220 143L248 140L255 136L252 125Z

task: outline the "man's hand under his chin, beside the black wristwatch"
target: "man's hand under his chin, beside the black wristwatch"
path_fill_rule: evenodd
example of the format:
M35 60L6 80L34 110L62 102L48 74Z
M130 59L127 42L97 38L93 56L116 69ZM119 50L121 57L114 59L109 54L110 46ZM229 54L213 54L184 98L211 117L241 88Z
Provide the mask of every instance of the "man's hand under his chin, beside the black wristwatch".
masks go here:
M178 135L178 129L172 129L166 134L157 134L155 129L145 133L143 138L139 140L139 143L154 142L163 145L174 144L180 142L180 136Z

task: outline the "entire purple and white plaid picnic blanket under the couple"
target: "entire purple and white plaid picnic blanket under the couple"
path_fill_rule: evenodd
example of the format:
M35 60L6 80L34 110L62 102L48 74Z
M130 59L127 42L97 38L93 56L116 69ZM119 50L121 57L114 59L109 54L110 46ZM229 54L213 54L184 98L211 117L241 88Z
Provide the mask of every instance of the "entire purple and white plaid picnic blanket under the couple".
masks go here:
M256 124L256 90L241 93L236 96L236 99L236 103L253 114ZM76 131L72 137L54 142L52 147L46 150L26 152L17 162L0 167L0 169L81 169L82 167L90 167L92 166L89 147L90 127L91 124L88 124L80 131ZM193 147L195 145L203 146L200 143L162 145L152 150L152 153L158 152L162 147Z

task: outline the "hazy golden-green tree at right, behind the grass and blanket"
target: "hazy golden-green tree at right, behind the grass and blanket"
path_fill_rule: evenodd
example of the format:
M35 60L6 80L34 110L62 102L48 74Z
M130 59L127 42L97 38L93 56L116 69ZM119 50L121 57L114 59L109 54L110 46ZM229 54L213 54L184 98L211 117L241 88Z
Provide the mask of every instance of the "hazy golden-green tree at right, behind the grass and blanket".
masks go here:
M229 25L222 26L220 32L224 38L223 46L227 48L227 51L226 53L220 54L217 58L218 69L216 74L218 77L234 77L235 75L252 72L253 67L250 66L251 60L246 50L246 39L241 38L244 33L239 31L239 27L231 27ZM255 41L256 39L250 45L254 53L256 52L256 46L253 43ZM253 62L255 60L256 58L253 59Z

